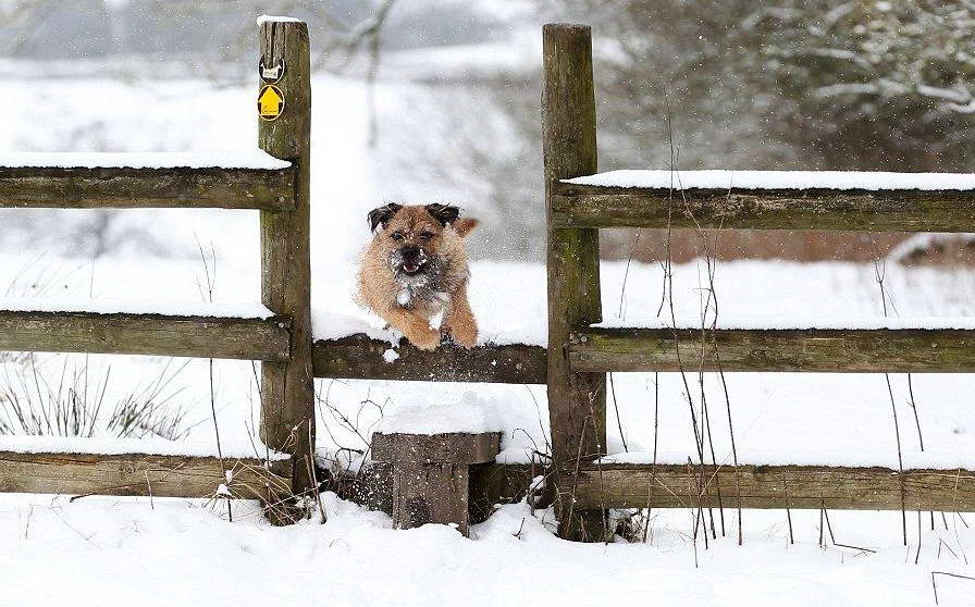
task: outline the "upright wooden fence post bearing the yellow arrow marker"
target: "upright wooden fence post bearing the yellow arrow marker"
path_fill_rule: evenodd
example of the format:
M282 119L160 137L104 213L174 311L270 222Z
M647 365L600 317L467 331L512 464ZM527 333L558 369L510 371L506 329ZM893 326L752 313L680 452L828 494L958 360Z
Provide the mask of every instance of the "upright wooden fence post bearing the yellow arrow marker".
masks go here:
M261 364L260 436L268 447L295 456L293 488L298 494L311 486L314 448L308 26L296 21L264 21L260 37L261 63L273 69L283 60L283 73L277 74L276 90L272 91L283 97L283 107L277 117L260 110L259 145L271 156L289 160L296 171L295 209L261 211L261 300L275 314L292 318L292 344L289 361Z

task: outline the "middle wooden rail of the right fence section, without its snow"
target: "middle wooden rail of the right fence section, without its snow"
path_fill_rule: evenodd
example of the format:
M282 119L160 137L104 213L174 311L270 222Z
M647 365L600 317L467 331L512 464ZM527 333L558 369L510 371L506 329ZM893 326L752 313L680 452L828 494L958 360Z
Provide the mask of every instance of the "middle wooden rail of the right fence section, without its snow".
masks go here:
M714 340L712 340L712 338ZM569 348L580 371L975 372L971 330L587 329Z

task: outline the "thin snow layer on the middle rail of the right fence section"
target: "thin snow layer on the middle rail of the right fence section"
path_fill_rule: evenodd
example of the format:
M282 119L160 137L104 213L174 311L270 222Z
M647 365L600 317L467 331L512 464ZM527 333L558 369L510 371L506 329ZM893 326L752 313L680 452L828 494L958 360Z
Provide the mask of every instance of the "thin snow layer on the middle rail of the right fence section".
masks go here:
M592 324L593 329L701 329L701 317L677 317L675 323L669 317L627 317L615 318ZM705 329L712 329L712 319L704 322ZM721 314L714 325L717 330L975 330L975 317L729 317Z

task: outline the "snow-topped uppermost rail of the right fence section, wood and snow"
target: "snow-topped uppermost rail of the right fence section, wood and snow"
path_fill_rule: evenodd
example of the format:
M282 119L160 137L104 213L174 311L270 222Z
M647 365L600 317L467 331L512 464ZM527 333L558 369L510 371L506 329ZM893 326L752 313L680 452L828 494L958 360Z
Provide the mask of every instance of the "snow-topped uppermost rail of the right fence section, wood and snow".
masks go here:
M971 232L975 175L610 171L551 184L556 227Z

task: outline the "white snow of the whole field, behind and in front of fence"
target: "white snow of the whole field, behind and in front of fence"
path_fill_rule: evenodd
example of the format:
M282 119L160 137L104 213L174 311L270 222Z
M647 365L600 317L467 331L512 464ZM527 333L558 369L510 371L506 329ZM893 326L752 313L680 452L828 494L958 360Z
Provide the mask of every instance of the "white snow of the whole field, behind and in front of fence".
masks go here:
M10 83L0 80L0 89ZM193 113L183 109L178 91L186 90L196 92ZM192 80L136 87L108 80L38 80L32 83L34 103L23 120L0 122L0 143L4 151L182 151L213 148L214 141L221 148L249 149L256 140L252 94L250 88L214 91L207 83ZM408 104L429 119L424 127L436 137L448 137L448 125L439 122L433 106L424 104L429 99L421 87L386 84L379 94L384 112ZM104 107L84 102L92 95L111 106L111 120ZM369 209L384 200L452 200L472 215L488 210L479 207L477 184L465 189L443 181L449 168L415 174L388 162L388 156L371 152L360 83L318 77L313 96L312 297L316 332L330 335L348 326L377 325L350 297L355 255L369 238ZM37 128L39 124L45 126ZM408 136L396 145L405 145ZM533 203L541 213L541 201ZM34 213L30 221L52 226L88 221L78 211L28 213ZM59 230L30 231L17 224L12 212L0 216L11 222L10 233L0 240L0 288L8 297L198 305L208 297L201 287L207 269L198 253L200 243L211 275L215 270L215 302L251 306L259 299L255 212L121 212L109 233L118 246L94 260L72 256L71 241ZM164 255L152 253L146 235L165 244ZM472 305L482 338L543 343L543 268L476 260L472 271ZM676 306L694 317L706 284L703 264L675 268L674 281ZM871 265L738 261L719 263L715 281L721 319L876 322L881 313ZM658 267L605 263L603 284L607 322L656 314L663 285ZM971 270L890 263L886 288L894 306L891 315L975 317ZM75 355L38 355L35 360L52 382L65 364L69 375L84 368L92 382L100 385L104 380L109 409L133 392L152 389L164 373L160 398L170 410L185 412L185 438L195 443L214 439L212 386L222 439L234 449L250 446L258 404L249 362L218 361L211 384L205 360ZM0 374L16 389L15 379L25 368L30 366L24 359L9 357ZM698 375L691 380L692 391L699 389ZM741 373L727 380L743 460L896 461L883 375ZM675 374L662 374L658 381L658 448L681 461L695 453L682 384ZM975 466L975 380L914 375L924 454L908 405L906 379L894 375L891 382L908 461ZM713 413L716 457L728 461L720 384L713 375L705 375L703 383L708 400L719 404ZM653 448L654 376L617 374L613 387L609 451L639 459ZM540 386L319 381L317 388L318 449L323 457L342 448L361 449L358 434L368 437L383 418L457 401L476 401L493 416L505 431L508 461L524 461L527 450L535 446L544 449L547 412ZM344 426L333 409L356 419L358 433ZM110 433L99 426L97 434ZM620 455L626 451L630 454ZM935 531L925 519L915 565L916 520L909 515L911 546L904 547L897 512L830 513L835 543L874 552L819 547L818 513L799 511L792 512L794 545L788 542L785 512L748 511L744 546L737 546L735 517L728 511L728 537L707 550L699 542L695 550L686 511L655 512L649 545L575 545L546 529L551 513L532 518L524 505L501 508L474 528L472 541L447 528L392 531L384 515L331 497L326 506L330 521L324 525L274 529L248 503L236 505L238 516L231 524L221 512L178 499L91 497L69 504L62 497L0 495L0 605L931 605L931 571L975 574L966 557L975 546L975 532L967 527L975 517L939 518ZM941 605L972 604L975 582L941 575L937 583Z

